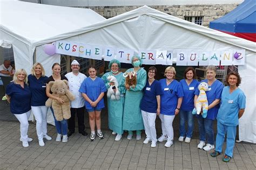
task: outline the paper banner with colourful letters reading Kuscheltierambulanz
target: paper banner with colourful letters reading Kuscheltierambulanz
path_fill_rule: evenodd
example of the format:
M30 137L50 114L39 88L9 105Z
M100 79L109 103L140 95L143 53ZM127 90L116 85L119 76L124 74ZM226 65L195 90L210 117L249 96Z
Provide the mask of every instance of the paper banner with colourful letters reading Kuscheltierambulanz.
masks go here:
M230 66L245 65L245 49L230 49L226 51L200 51L166 49L162 51L139 49L122 49L109 46L89 45L60 40L56 42L56 53L79 56L87 59L111 61L117 59L123 63L131 63L133 55L138 55L145 65L177 66Z

